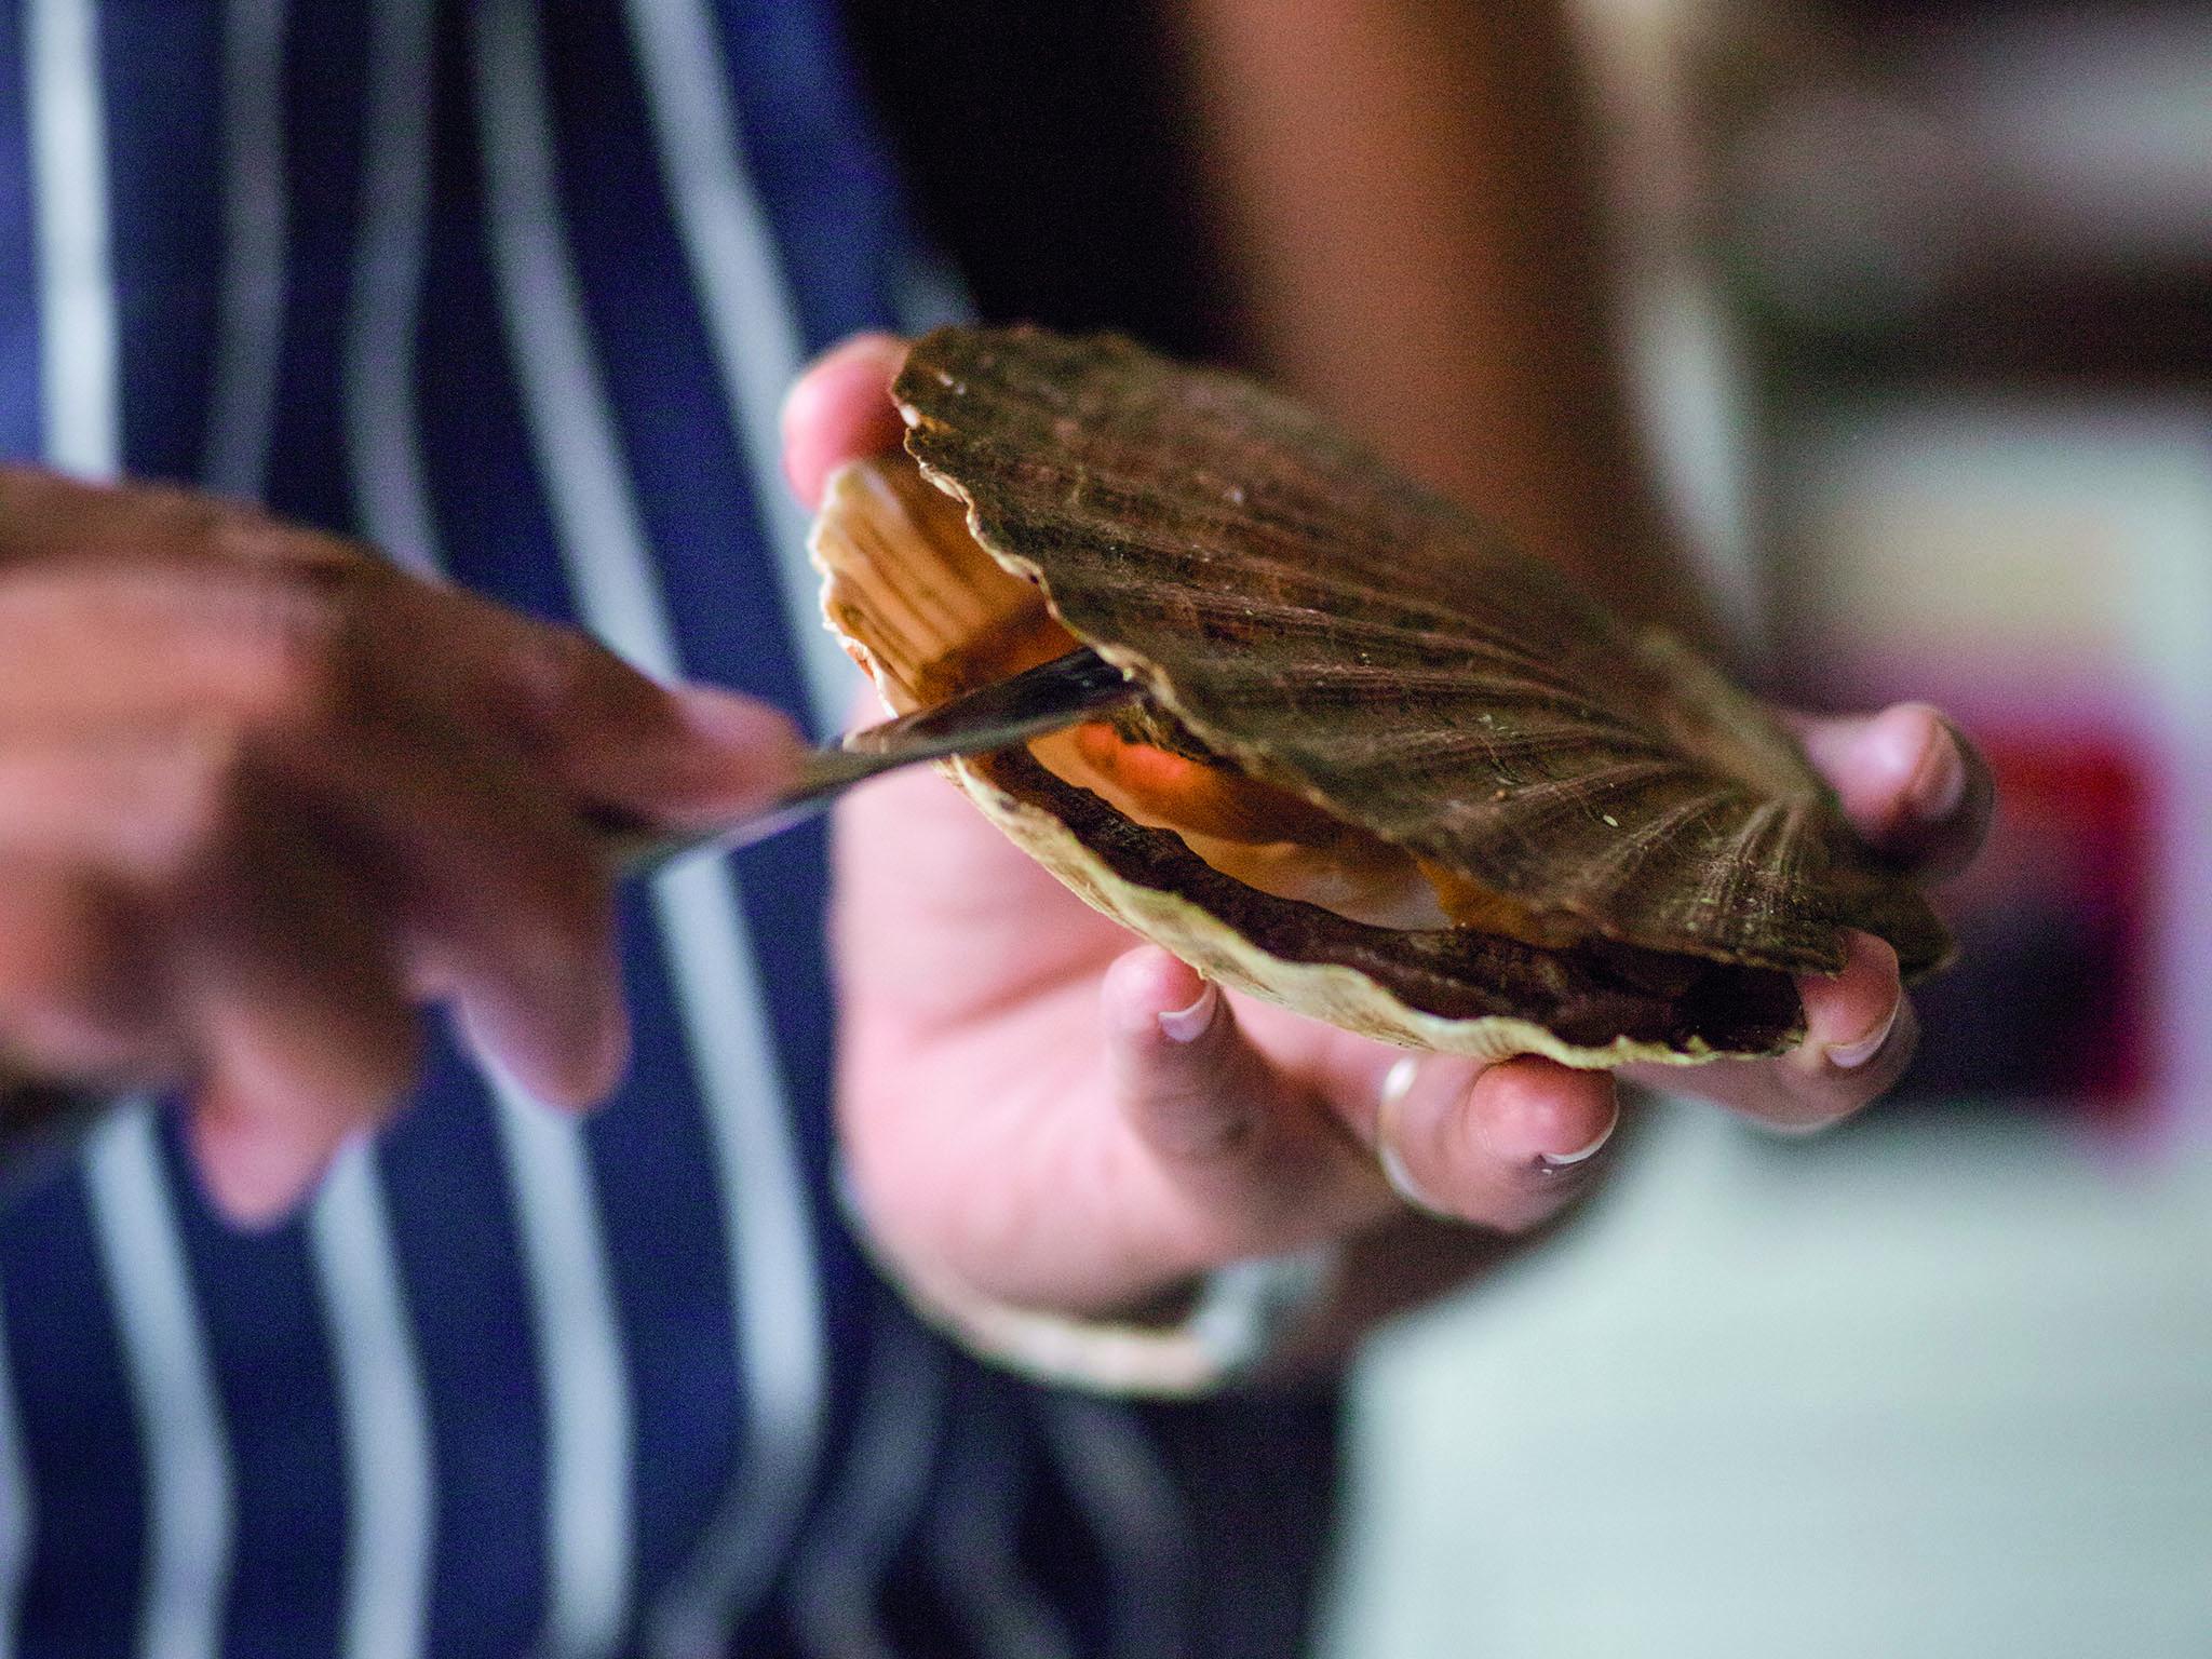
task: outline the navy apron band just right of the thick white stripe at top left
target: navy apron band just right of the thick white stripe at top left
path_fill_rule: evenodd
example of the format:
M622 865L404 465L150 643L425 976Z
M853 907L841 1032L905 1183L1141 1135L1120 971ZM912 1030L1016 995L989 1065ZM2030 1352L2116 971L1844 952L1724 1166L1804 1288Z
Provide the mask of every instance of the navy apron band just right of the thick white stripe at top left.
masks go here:
M195 478L206 447L221 199L217 7L100 7L108 217L131 471Z

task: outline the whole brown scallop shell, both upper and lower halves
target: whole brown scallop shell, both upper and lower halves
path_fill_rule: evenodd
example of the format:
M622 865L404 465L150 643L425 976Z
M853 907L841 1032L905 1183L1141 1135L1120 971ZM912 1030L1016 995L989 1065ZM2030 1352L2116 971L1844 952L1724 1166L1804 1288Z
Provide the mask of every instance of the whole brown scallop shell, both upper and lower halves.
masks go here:
M1252 380L1119 338L940 330L894 396L964 522L891 460L841 476L816 535L830 622L894 706L1075 635L1208 754L1571 940L1347 920L1029 754L953 768L1201 971L1394 1042L1588 1066L1787 1046L1787 975L1840 969L1847 927L1907 973L1949 953L1750 697Z

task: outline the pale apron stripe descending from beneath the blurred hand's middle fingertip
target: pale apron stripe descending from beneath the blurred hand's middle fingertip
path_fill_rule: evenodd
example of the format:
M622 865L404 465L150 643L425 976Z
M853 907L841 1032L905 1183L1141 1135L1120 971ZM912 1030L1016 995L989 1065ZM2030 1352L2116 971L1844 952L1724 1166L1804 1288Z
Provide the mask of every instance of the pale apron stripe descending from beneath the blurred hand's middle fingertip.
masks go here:
M630 1621L630 1385L584 1137L493 1077L546 1387L546 1655L611 1652Z

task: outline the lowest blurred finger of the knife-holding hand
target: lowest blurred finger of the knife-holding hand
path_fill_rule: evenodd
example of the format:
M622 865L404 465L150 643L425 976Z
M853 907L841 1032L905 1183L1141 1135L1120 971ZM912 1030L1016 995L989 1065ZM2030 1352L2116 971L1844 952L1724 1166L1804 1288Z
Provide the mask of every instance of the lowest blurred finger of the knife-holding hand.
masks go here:
M177 920L201 1073L192 1150L241 1225L288 1214L414 1082L418 1022L367 898L354 872L272 827Z

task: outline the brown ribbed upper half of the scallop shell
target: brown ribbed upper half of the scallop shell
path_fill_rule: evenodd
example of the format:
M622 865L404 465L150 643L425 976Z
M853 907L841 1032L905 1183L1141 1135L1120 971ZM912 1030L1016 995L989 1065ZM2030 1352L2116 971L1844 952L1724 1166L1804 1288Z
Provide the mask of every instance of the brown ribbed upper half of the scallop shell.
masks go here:
M1947 958L1756 701L1256 383L938 330L894 396L975 538L1241 770L1624 945Z

